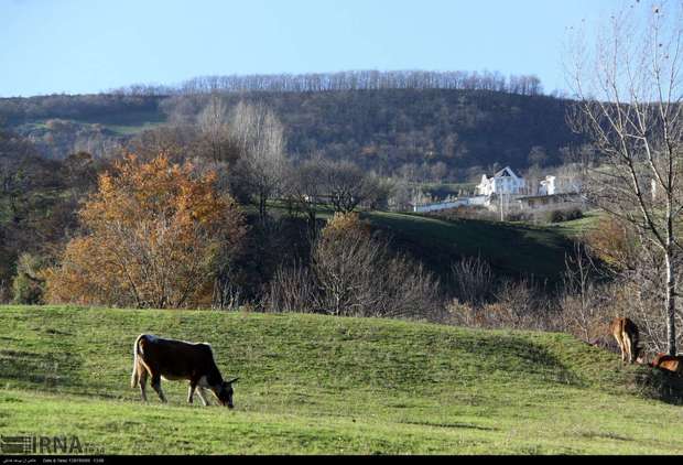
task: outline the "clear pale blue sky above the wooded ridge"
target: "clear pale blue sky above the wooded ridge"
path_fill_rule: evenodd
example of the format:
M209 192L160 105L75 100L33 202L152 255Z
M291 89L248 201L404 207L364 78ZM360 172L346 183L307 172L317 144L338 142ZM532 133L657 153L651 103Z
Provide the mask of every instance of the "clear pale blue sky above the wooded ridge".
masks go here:
M346 69L535 74L619 0L0 0L0 96Z

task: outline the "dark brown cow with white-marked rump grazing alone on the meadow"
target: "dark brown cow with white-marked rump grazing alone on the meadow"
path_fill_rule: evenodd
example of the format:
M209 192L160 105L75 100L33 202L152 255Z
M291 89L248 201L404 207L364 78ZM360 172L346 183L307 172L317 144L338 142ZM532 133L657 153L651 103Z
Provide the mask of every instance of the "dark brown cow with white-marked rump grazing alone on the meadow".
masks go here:
M221 405L232 408L232 383L239 378L224 381L214 361L214 353L208 344L192 344L183 340L162 339L142 334L133 345L133 372L131 387L140 385L142 400L147 402L147 378L152 378L152 388L162 402L166 398L161 390L161 378L166 380L189 380L187 402L192 403L195 389L202 403L208 405L204 389L212 390Z

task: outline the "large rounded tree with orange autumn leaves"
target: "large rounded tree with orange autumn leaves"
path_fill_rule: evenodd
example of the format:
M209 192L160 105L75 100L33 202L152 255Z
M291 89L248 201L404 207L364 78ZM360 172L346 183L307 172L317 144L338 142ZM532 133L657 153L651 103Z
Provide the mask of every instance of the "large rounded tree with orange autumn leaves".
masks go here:
M215 271L245 235L243 216L215 174L164 155L129 155L99 176L72 239L46 274L48 302L134 307L210 304Z

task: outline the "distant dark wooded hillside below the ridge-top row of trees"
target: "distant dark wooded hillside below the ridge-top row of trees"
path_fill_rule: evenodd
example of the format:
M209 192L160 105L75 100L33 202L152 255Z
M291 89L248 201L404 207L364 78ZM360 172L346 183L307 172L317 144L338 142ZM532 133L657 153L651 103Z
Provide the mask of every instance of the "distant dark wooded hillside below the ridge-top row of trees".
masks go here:
M206 93L4 98L0 121L48 156L76 150L101 155L142 130L194 121L209 98ZM229 106L243 99L273 108L294 155L319 151L387 174L440 162L458 176L494 163L555 164L563 148L581 143L565 122L571 101L542 95L413 88L227 93L224 98Z

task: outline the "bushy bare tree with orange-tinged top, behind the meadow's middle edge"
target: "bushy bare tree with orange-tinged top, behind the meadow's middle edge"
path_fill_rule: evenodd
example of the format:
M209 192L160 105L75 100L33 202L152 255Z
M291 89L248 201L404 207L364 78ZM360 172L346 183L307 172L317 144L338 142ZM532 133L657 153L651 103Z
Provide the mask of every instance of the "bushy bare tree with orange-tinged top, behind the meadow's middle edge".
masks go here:
M438 281L421 263L389 251L355 214L336 214L313 244L311 267L280 268L265 305L345 316L442 321Z

